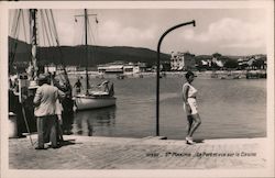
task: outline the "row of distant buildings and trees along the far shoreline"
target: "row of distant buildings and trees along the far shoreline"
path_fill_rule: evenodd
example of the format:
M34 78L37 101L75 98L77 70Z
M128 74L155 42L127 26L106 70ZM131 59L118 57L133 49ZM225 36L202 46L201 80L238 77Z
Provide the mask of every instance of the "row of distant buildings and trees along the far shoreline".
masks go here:
M24 73L28 63L14 64L15 73ZM162 71L186 71L186 70L266 70L266 55L250 55L241 57L228 57L221 54L196 56L189 52L172 52L170 60L161 63ZM67 65L65 67L68 73L81 73L84 66ZM41 66L41 71L45 73L63 73L64 67L59 64L46 64ZM89 71L96 71L99 75L134 75L146 71L156 71L156 66L150 66L146 63L132 63L116 60L113 63L100 64L89 67Z

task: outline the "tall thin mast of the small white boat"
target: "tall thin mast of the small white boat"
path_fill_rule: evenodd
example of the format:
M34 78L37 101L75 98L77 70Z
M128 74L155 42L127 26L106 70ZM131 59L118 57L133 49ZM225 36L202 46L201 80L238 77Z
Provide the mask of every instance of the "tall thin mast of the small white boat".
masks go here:
M89 75L88 75L88 14L87 9L85 9L85 59L86 59L86 94L89 93Z

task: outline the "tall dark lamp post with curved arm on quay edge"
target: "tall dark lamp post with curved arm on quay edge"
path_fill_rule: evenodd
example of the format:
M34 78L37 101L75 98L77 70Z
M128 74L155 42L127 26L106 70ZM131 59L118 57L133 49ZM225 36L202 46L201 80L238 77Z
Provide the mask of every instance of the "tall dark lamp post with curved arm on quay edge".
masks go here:
M170 29L168 29L160 38L158 44L157 44L157 63L156 63L156 136L160 136L160 51L161 51L161 45L163 42L163 38L172 31L175 29L193 24L193 26L196 26L195 20L186 23L180 23L178 25L175 25Z

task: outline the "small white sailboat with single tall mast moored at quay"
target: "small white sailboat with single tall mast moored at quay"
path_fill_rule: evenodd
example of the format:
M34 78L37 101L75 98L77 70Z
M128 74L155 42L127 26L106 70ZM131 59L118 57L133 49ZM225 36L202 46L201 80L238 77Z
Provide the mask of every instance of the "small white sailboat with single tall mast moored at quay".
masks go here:
M103 91L95 91L90 89L88 75L88 13L85 9L85 49L86 49L86 93L78 93L74 97L76 110L89 110L105 107L116 105L117 98L113 96L113 84L109 87L109 81L103 81Z

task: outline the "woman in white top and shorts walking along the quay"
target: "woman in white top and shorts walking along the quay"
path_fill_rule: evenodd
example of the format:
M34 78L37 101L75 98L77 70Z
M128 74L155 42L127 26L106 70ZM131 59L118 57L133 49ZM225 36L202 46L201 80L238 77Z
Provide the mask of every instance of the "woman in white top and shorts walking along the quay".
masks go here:
M186 143L194 144L193 134L201 124L196 100L198 90L191 85L195 77L197 76L195 76L194 73L191 71L187 71L185 77L187 82L183 85L183 100L184 100L184 109L188 121Z

